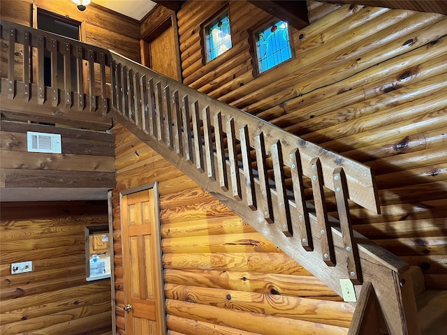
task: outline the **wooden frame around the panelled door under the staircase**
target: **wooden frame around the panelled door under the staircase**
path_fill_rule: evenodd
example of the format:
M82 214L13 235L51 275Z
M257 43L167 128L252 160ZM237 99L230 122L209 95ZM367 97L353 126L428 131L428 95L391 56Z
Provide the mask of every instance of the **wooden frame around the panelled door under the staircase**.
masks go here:
M155 229L154 229L154 235L155 235L155 244L156 244L156 254L157 257L155 259L156 264L155 266L159 270L159 278L157 278L156 285L156 315L159 316L160 320L157 320L156 322L160 322L161 325L161 335L166 335L168 332L167 326L166 326L166 301L165 301L165 290L164 290L164 281L163 281L163 255L161 252L161 227L160 227L160 205L159 205L159 183L157 181L154 181L152 183L143 184L140 186L135 186L133 188L128 188L124 191L119 192L119 221L121 223L121 230L123 229L123 220L122 220L122 197L132 194L132 193L138 193L140 191L149 191L150 189L154 190L154 216L155 216ZM121 251L123 255L123 273L127 271L125 262L124 262L124 241L121 239ZM124 281L124 276L123 276ZM126 283L123 285L123 290L126 286ZM126 299L126 292L124 291L124 299ZM126 301L124 301L125 305Z

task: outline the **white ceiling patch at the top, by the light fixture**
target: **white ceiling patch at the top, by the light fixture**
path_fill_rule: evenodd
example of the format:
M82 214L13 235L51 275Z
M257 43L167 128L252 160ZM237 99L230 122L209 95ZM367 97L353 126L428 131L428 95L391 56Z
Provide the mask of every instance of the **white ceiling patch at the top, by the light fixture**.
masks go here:
M92 0L100 6L140 21L156 3L150 0Z

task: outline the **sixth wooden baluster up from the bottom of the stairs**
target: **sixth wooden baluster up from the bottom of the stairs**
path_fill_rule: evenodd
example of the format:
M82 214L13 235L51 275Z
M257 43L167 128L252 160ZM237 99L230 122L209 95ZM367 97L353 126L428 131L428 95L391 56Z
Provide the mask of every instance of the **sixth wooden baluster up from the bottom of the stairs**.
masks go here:
M242 154L242 166L244 167L245 198L247 205L252 210L256 210L256 193L254 188L253 168L251 168L249 127L245 125L240 128L240 147Z

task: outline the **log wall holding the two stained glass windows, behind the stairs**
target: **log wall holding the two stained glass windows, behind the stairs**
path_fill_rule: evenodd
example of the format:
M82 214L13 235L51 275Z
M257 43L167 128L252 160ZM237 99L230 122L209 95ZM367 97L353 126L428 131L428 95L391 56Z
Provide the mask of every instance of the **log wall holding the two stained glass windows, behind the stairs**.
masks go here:
M233 47L204 65L200 24L226 3L177 13L184 83L372 166L382 214L351 206L356 229L446 290L447 17L308 1L295 59L256 77L251 29L269 16L245 1L228 4Z

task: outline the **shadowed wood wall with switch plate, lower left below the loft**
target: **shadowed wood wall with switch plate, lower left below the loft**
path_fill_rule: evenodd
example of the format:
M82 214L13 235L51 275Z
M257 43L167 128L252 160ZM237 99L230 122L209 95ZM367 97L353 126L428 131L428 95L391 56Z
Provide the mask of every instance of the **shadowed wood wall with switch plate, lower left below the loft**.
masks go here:
M0 333L110 335L110 279L85 280L84 228L108 224L107 203L0 205Z

